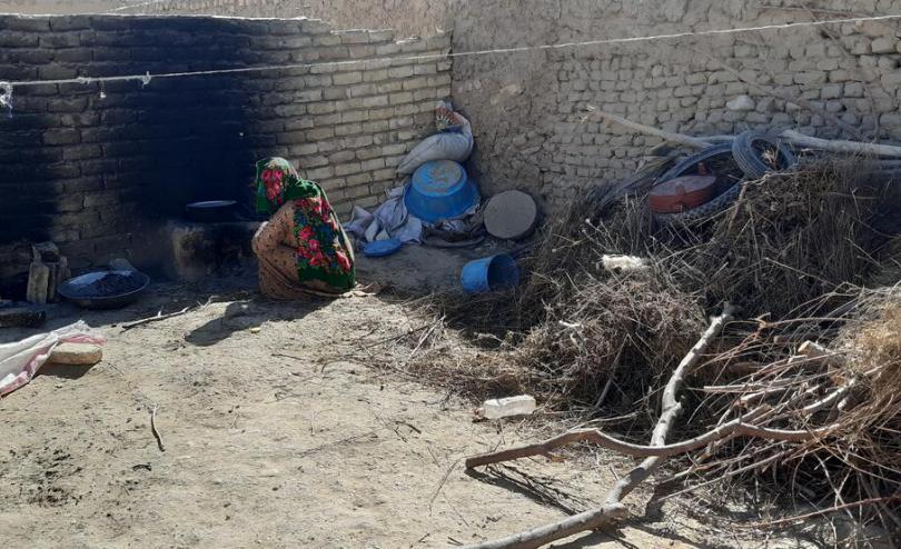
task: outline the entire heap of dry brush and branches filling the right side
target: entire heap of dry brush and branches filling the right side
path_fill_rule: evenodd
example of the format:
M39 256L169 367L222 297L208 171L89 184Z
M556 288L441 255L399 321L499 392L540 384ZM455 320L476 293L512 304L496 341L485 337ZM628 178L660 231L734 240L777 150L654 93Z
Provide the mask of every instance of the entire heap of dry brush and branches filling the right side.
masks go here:
M587 430L557 442L591 440L656 460L651 470L687 457L676 478L689 489L754 477L814 515L901 531L901 291L864 289L898 250L901 197L869 166L832 160L745 182L730 209L693 227L656 223L640 184L598 189L547 230L516 293L432 303L449 326L493 333L481 336L493 351L426 351L422 363L479 396L527 391L588 417L637 410L647 421L622 438ZM611 269L608 254L646 268ZM716 337L691 351L725 302ZM652 445L634 442L652 425ZM547 442L498 453L547 453ZM596 527L628 490L566 528ZM483 547L538 547L561 528Z

